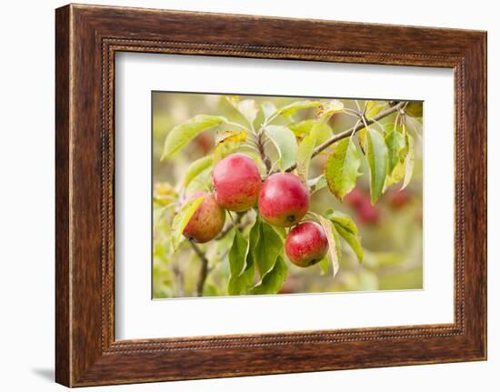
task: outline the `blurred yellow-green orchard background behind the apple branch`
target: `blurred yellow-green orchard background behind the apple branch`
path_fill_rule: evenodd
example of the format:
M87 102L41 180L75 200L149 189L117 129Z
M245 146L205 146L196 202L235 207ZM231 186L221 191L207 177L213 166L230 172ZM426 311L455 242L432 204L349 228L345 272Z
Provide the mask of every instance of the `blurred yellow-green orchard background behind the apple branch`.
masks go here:
M210 184L210 172L199 176L187 187L185 195L178 186L187 167L202 156L214 152L213 130L196 136L173 159L161 162L165 136L176 125L199 115L225 116L231 121L241 122L242 116L226 99L227 95L185 94L155 92L153 94L153 192L154 192L154 241L153 241L153 296L154 298L194 297L200 259L190 246L181 246L171 252L168 241L172 218L178 202L185 196L202 190ZM272 102L276 107L297 101L297 97L245 96L255 99L257 105ZM331 99L331 98L330 98ZM338 98L337 98L338 99ZM325 101L327 101L325 99ZM352 99L340 99L345 107L355 109ZM381 101L383 102L383 101ZM358 100L364 106L365 101ZM294 121L314 118L315 108L295 113ZM354 126L355 118L336 114L329 121L332 132L344 131ZM418 126L415 119L413 126ZM395 122L395 114L387 116L381 123ZM412 124L409 124L412 126ZM421 134L420 134L421 135ZM313 158L309 177L323 172L330 148ZM420 289L423 287L423 232L422 232L422 139L415 138L415 169L412 180L404 190L401 183L391 186L377 201L370 203L369 174L362 160L363 173L357 186L339 202L325 187L311 196L310 209L323 212L334 208L351 216L361 234L364 260L359 263L348 246L343 246L343 256L338 274L324 274L319 265L299 268L288 263L288 277L280 294L318 293L342 291L373 291ZM184 192L183 192L184 193ZM226 226L231 224L226 219ZM230 271L228 251L233 243L233 233L222 240L200 245L209 260L209 275L206 279L204 297L226 296ZM185 241L186 242L186 241Z

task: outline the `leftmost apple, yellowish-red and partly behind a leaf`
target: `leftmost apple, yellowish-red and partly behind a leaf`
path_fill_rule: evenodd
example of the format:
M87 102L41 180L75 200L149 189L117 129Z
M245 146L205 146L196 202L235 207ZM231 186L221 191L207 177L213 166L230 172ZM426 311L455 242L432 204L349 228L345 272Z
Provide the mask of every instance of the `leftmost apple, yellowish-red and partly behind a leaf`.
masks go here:
M195 192L185 203L200 196L205 196L205 199L189 219L183 234L186 238L203 244L217 236L224 227L225 210L215 202L213 195L205 192Z

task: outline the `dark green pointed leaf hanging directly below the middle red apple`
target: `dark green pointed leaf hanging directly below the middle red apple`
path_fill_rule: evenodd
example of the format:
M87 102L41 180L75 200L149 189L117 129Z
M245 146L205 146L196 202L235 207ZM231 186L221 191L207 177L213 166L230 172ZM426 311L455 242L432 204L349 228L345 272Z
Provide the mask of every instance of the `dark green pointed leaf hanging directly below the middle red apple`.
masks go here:
M262 278L273 268L277 257L283 252L283 239L272 226L261 221L259 239L254 251L255 262Z

